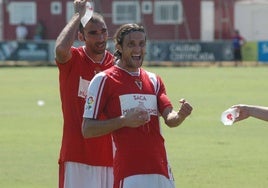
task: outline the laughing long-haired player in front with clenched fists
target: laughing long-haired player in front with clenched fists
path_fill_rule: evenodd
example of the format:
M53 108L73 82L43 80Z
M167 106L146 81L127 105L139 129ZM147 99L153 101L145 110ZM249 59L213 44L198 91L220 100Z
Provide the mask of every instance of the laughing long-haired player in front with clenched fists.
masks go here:
M182 100L175 111L162 79L141 68L146 51L142 26L123 25L114 40L116 65L91 81L82 133L86 138L112 133L114 188L174 188L159 117L176 127L192 106Z

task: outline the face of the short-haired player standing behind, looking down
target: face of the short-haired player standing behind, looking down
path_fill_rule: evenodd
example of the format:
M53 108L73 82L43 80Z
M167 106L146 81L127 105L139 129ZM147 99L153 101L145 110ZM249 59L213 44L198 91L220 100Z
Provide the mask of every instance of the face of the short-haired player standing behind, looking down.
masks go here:
M84 40L87 50L94 54L102 54L106 49L108 31L103 22L88 22L84 28Z

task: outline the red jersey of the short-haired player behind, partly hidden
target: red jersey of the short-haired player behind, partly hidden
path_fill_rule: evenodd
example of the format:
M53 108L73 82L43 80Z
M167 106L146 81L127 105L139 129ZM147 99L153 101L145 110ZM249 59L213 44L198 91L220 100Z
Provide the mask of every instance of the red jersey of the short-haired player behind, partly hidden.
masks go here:
M101 63L90 59L83 47L71 48L72 58L59 68L60 97L63 112L63 135L59 163L79 162L93 166L112 166L111 135L85 139L81 126L88 85L94 75L114 64L106 51Z

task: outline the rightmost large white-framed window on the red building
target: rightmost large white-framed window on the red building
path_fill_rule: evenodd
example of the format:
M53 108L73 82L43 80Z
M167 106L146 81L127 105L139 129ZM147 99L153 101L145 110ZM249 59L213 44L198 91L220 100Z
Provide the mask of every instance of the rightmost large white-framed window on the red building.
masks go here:
M183 21L181 1L156 1L154 6L155 24L180 24Z

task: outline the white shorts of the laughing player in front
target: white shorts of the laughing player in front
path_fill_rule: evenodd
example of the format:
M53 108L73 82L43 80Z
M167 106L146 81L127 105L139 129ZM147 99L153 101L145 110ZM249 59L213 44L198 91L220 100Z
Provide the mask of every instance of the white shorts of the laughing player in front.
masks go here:
M174 181L159 174L129 176L120 182L119 188L175 188Z

